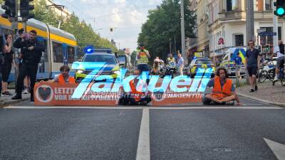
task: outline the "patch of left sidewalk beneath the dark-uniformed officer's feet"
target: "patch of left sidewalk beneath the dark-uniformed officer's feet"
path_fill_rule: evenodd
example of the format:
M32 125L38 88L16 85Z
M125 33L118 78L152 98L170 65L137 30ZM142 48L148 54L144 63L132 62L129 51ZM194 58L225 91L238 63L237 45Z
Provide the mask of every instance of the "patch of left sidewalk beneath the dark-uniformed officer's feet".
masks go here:
M22 102L24 100L29 100L30 99L30 94L23 94L22 93L22 100L11 100L11 97L13 97L15 95L15 90L9 90L9 92L13 93L12 96L3 96L1 95L0 97L0 108L8 106L8 105L14 105L18 102Z

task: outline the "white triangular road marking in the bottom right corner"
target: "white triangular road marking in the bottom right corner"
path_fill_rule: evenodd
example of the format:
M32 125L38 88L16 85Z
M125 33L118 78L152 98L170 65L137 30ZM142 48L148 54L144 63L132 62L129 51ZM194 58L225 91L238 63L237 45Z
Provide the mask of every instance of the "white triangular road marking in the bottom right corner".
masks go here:
M273 151L277 159L284 160L285 159L285 145L279 144L277 142L271 141L269 139L263 138L267 143L269 148Z

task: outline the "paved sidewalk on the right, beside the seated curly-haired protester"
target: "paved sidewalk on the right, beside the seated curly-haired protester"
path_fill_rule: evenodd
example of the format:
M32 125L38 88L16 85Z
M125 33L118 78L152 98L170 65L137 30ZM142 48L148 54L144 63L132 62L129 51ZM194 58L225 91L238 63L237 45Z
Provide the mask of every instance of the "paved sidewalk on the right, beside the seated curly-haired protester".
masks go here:
M257 92L249 92L251 87L244 85L237 87L237 93L238 95L253 100L285 107L285 86L282 86L280 82L276 82L275 85L272 85L270 80L266 80L265 82L258 82L257 85L259 87Z

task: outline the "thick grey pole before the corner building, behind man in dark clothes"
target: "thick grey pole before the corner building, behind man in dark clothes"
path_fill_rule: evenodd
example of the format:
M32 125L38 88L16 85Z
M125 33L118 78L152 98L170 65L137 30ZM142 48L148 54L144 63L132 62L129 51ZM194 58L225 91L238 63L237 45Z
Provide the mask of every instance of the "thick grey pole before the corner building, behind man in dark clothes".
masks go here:
M254 41L254 1L252 0L247 0L247 42L249 40ZM248 73L247 84L249 84Z

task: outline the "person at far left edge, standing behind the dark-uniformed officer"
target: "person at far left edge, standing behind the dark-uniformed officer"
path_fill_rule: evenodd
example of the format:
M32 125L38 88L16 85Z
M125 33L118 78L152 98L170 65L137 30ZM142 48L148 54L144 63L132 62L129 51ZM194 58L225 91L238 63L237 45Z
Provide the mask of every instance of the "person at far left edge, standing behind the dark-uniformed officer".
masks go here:
M12 65L14 63L14 50L12 50L12 35L5 35L5 45L3 48L4 63L2 65L2 95L11 96L12 94L8 91L8 78L11 73Z

